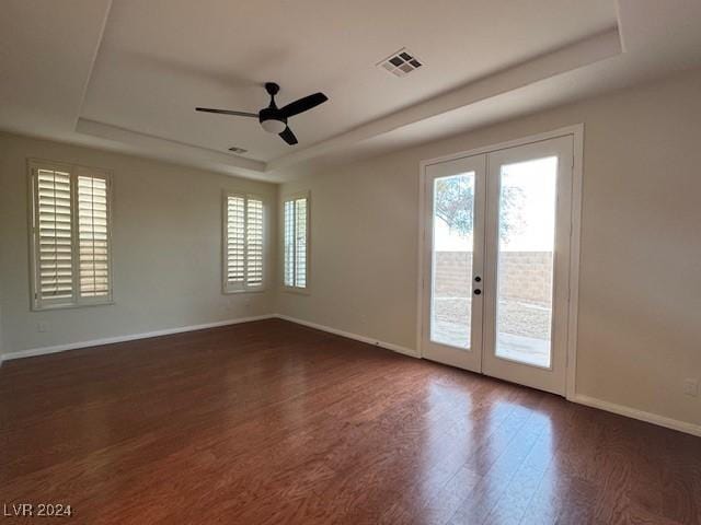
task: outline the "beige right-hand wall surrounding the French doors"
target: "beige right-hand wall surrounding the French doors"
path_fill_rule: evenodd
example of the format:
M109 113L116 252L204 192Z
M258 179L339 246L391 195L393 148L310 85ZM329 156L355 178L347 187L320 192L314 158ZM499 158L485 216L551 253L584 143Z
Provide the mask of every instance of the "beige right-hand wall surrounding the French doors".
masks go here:
M579 394L701 424L701 71L285 184L311 190L311 294L277 311L416 348L421 160L585 122Z

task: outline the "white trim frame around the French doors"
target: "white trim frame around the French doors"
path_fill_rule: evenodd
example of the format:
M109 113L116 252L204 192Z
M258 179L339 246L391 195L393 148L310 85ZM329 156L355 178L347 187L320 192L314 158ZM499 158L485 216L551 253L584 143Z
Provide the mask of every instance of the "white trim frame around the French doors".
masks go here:
M424 299L425 291L425 264L424 252L426 249L426 220L425 220L425 173L426 166L432 164L455 161L464 156L473 156L491 153L507 148L525 145L542 140L571 136L573 138L573 168L572 168L572 236L570 246L570 304L567 308L567 370L565 374L565 397L574 399L576 392L576 365L577 365L577 311L579 298L579 240L582 228L582 178L584 173L584 124L576 124L564 128L554 129L543 133L531 135L507 142L485 145L473 150L461 151L450 155L421 161L418 171L418 275L417 275L417 304L416 304L416 349L423 358L423 330L424 326Z

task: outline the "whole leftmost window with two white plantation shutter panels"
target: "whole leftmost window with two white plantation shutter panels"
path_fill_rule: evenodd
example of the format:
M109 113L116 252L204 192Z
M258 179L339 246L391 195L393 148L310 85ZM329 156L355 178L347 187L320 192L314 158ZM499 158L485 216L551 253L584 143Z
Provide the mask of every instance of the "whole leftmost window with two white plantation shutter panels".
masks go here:
M110 175L30 161L34 310L112 302Z

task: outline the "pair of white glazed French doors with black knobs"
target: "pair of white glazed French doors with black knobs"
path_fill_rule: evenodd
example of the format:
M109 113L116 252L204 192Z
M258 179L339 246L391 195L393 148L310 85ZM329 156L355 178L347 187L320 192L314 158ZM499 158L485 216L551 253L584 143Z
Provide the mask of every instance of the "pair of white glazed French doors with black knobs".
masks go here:
M564 394L573 138L425 166L422 354Z

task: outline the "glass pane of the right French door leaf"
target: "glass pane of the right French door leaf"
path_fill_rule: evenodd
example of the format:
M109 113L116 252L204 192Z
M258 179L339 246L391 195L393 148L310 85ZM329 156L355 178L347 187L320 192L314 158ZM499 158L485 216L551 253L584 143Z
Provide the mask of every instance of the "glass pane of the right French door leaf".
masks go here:
M558 158L501 168L496 355L550 368Z

